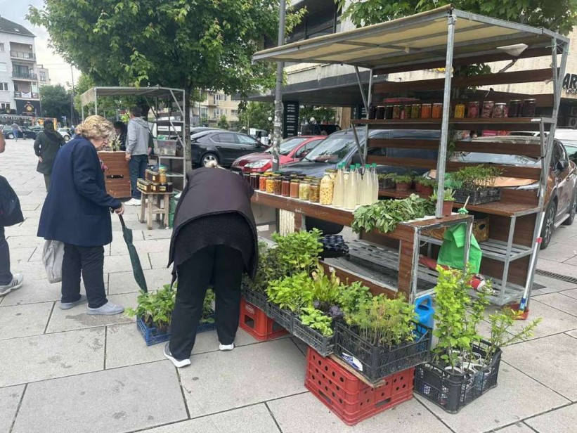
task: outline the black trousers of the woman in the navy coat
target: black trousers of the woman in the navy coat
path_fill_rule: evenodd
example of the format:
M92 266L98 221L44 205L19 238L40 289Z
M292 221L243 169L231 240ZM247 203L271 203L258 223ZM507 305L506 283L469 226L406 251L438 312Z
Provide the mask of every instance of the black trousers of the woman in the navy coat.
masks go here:
M104 289L104 247L77 247L64 244L62 261L62 302L80 299L80 273L90 308L108 302Z

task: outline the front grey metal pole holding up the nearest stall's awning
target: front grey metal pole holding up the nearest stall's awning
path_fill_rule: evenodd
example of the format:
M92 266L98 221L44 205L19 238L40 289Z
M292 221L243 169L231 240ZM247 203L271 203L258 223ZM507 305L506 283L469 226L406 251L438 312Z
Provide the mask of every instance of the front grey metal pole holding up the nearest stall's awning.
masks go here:
M450 108L450 81L453 76L453 45L455 44L455 22L457 19L450 14L448 16L448 34L447 34L447 58L445 65L445 91L443 93L443 122L441 122L441 146L439 146L439 156L436 162L436 180L437 180L437 200L435 216L443 216L443 196L445 193L445 169L447 159L447 143L449 131L449 108Z

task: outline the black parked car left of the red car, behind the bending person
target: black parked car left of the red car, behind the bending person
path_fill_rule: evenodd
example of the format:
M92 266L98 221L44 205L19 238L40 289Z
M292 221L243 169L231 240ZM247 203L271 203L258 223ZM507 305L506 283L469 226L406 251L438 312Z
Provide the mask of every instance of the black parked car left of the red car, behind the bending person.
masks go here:
M195 165L206 167L209 162L216 161L223 167L230 167L239 157L262 152L266 147L246 134L219 129L190 136L190 149Z

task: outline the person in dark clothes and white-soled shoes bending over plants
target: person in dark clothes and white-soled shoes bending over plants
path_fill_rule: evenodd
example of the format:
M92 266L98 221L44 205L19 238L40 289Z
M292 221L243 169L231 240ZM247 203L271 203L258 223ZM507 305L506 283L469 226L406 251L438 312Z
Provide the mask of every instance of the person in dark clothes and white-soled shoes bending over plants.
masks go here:
M187 175L169 250L169 266L174 263L179 288L164 356L177 368L190 365L202 304L211 285L219 349L234 349L242 273L254 276L259 259L250 207L253 194L241 176L225 169L205 167Z

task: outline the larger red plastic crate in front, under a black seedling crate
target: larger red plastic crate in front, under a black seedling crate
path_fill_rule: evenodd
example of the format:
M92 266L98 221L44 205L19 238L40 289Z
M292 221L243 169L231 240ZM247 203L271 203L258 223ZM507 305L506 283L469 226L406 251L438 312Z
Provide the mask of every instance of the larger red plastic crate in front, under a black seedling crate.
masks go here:
M346 425L355 425L413 398L415 368L384 378L372 388L330 358L309 348L304 386Z

